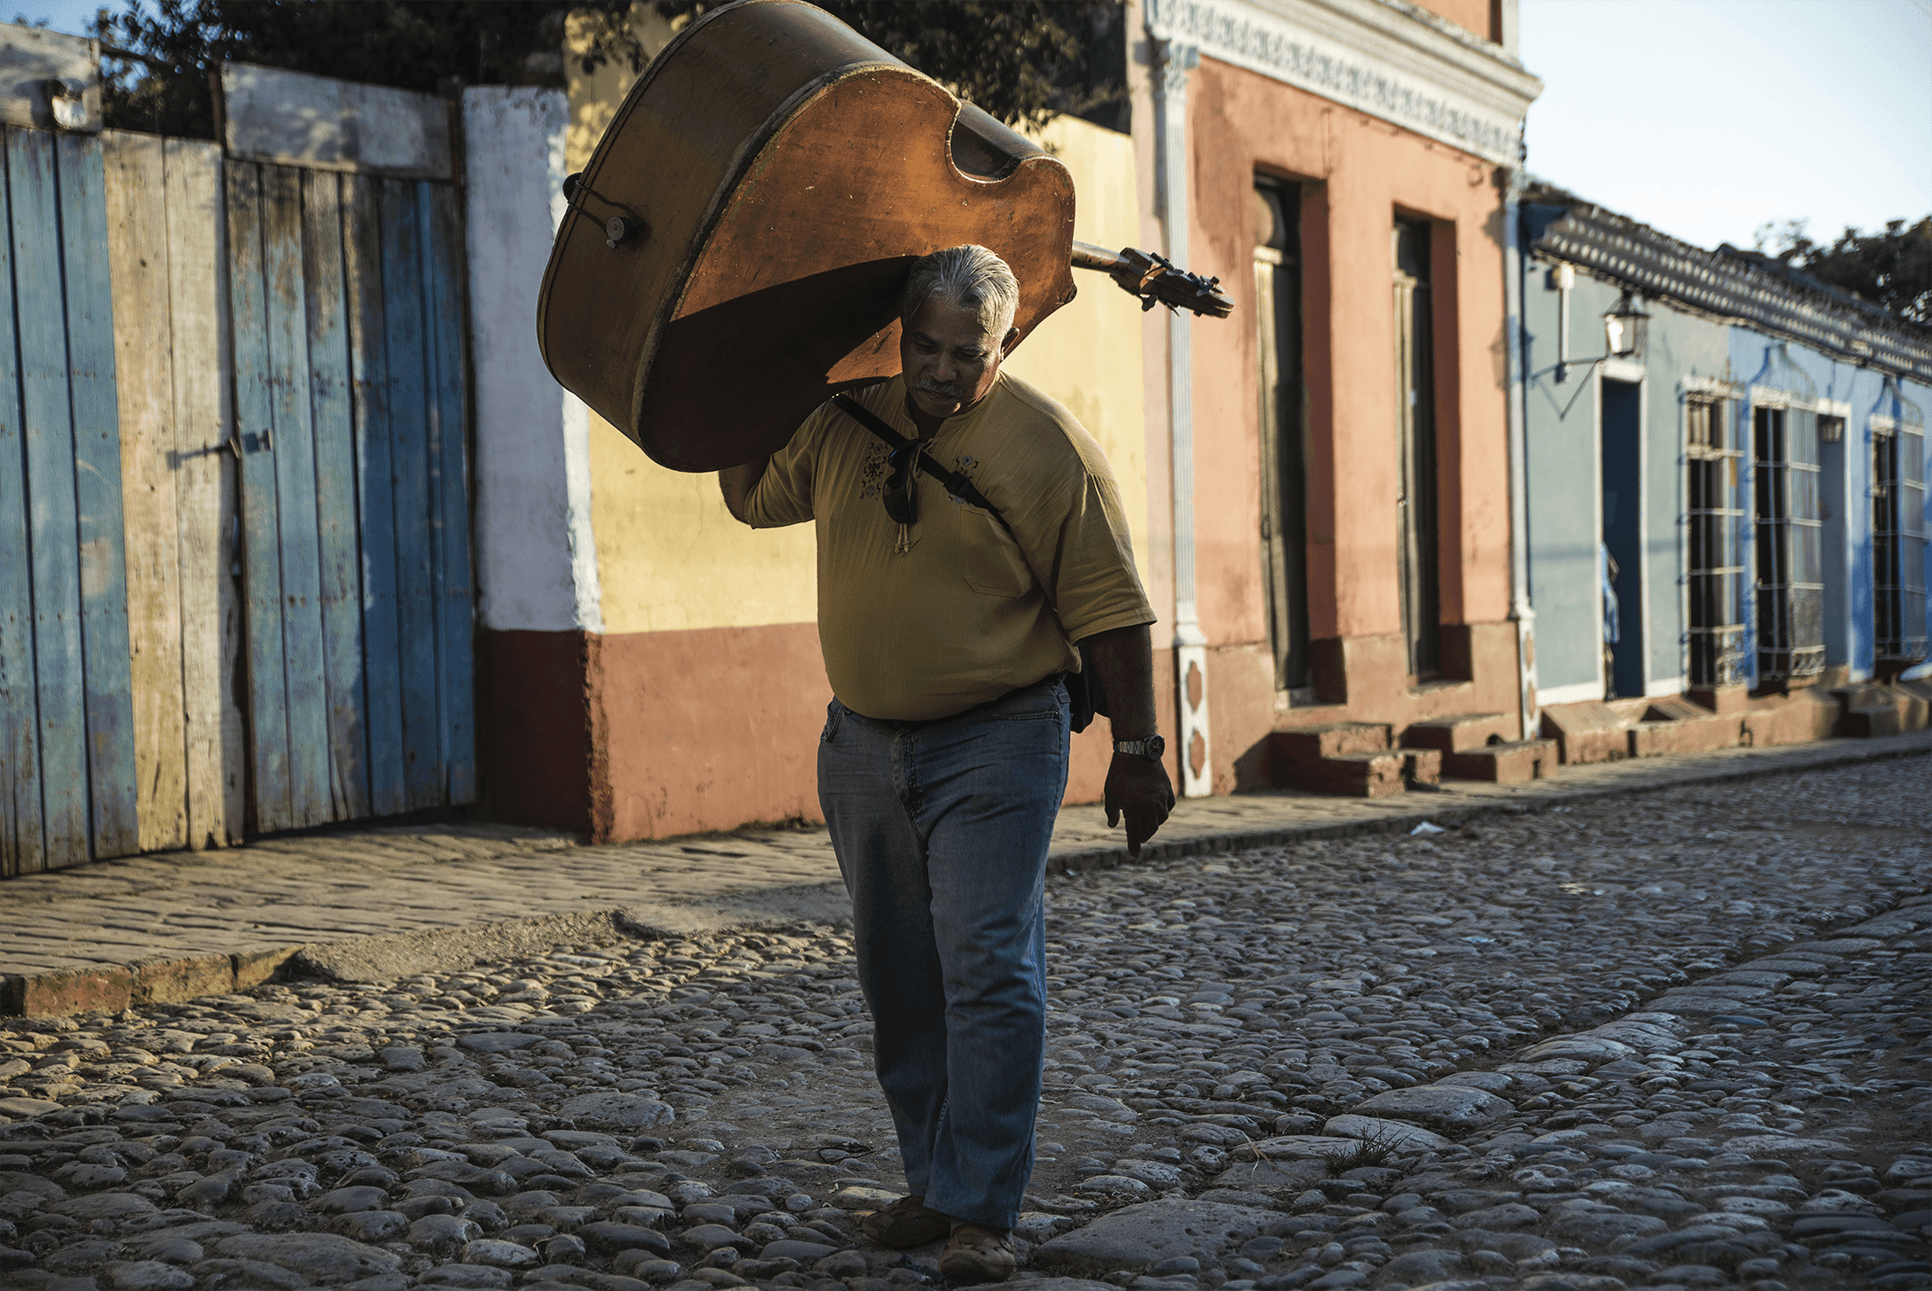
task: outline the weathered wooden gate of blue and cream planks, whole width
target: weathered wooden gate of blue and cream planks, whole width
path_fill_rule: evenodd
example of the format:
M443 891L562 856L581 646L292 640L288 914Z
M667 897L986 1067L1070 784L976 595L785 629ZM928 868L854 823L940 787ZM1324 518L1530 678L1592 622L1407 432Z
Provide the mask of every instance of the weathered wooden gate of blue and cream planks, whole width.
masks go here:
M448 104L222 77L220 143L0 95L0 877L477 792Z

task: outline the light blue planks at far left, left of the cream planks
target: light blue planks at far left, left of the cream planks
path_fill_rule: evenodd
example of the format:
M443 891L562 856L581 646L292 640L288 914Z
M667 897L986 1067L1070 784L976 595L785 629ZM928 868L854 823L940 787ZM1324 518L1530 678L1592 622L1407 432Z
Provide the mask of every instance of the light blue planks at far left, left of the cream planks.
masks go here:
M4 129L0 875L137 850L100 139Z

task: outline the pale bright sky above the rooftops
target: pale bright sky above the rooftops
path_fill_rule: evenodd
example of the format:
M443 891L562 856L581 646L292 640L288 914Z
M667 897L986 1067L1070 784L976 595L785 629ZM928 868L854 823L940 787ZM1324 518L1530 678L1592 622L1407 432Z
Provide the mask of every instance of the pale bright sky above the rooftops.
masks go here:
M1700 247L1932 215L1932 0L1520 0L1520 33L1530 172L1619 215Z

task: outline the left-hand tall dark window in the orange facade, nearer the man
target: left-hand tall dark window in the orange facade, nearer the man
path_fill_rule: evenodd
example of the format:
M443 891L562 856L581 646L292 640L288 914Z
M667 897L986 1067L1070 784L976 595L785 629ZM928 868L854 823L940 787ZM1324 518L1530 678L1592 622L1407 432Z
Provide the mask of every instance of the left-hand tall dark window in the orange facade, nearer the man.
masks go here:
M1300 186L1256 180L1254 317L1262 394L1262 582L1275 690L1308 686L1308 460Z

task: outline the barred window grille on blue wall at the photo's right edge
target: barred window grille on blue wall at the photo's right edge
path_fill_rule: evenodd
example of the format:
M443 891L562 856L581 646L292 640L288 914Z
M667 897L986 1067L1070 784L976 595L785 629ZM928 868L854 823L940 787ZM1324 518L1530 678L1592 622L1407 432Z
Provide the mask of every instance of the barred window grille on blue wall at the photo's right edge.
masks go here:
M1926 657L1924 417L1888 383L1901 416L1872 417L1872 638L1880 661Z

